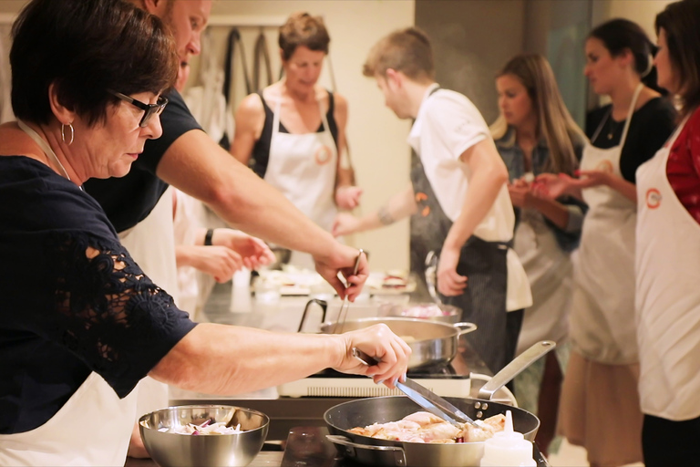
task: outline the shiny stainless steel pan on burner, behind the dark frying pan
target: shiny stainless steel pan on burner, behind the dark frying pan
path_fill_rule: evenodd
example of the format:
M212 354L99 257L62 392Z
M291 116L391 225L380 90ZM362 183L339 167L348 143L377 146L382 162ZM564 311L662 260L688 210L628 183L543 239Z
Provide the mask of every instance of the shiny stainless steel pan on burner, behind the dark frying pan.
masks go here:
M306 312L312 303L322 307L325 319L327 304L323 300L314 299L309 301L304 308L302 322L299 325L301 330L304 327ZM476 330L477 325L473 323L455 323L449 325L438 321L427 321L419 318L407 317L365 317L360 319L348 319L342 326L335 326L335 323L321 324L321 332L335 334L334 331L347 332L355 329L374 326L376 324L386 324L397 336L403 337L411 348L411 357L408 360L408 369L438 367L448 365L458 352L458 338Z

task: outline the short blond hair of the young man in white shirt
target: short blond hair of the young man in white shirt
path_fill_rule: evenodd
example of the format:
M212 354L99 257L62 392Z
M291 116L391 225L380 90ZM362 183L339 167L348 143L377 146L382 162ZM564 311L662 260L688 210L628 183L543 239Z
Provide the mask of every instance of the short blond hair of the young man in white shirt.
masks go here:
M417 27L407 27L380 39L369 51L362 73L370 78L386 77L387 69L400 71L417 81L433 79L433 51L426 33Z

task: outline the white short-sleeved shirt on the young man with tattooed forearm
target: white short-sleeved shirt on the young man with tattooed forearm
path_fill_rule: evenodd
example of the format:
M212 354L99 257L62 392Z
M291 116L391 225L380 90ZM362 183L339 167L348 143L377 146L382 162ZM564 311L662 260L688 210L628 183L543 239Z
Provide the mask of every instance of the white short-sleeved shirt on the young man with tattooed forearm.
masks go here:
M455 222L462 211L471 171L459 158L465 150L491 138L479 110L455 91L427 88L416 121L408 134L408 144L416 150L427 180L440 207ZM428 99L429 97L429 99ZM494 153L498 155L494 149ZM474 229L474 235L487 242L508 242L513 238L515 213L504 184L489 213ZM530 283L512 248L507 254L508 291L506 309L519 310L532 305Z

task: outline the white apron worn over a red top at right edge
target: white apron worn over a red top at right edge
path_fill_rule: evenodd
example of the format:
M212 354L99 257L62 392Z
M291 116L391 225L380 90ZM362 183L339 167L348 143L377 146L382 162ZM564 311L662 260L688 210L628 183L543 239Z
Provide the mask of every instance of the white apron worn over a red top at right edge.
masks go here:
M666 178L674 136L637 169L637 338L642 411L700 416L700 225Z

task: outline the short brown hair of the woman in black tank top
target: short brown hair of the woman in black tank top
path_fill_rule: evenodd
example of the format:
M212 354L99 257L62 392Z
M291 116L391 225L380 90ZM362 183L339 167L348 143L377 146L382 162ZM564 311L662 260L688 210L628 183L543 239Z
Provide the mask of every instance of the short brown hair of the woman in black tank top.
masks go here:
M321 16L311 16L308 13L294 13L280 27L278 39L284 60L289 60L296 47L304 46L310 50L328 53L331 37L325 28Z

